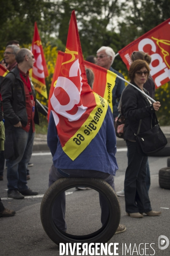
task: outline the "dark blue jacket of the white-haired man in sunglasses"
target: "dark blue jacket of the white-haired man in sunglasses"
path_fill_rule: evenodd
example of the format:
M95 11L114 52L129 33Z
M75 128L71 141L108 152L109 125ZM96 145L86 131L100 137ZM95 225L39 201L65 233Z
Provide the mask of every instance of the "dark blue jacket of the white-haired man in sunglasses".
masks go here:
M112 67L110 67L109 70L116 73L118 76L121 76L122 78L124 78L124 76L121 73L114 70ZM122 91L124 89L125 89L125 82L123 80L119 79L118 77L116 77L115 86L113 87L113 90L112 90L112 105L113 105L113 117L114 118L119 115L117 107L119 105L120 97L121 97Z

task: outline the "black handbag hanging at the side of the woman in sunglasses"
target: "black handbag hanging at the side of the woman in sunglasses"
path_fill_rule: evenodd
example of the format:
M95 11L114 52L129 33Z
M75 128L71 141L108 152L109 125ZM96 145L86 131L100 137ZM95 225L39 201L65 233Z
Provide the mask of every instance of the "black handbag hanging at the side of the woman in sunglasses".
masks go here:
M157 124L154 125L152 129L145 131L143 133L139 133L141 122L142 119L139 122L138 133L135 135L136 143L139 144L142 152L147 155L149 153L157 152L164 148L164 146L167 144L167 139L163 131L161 131L158 120Z

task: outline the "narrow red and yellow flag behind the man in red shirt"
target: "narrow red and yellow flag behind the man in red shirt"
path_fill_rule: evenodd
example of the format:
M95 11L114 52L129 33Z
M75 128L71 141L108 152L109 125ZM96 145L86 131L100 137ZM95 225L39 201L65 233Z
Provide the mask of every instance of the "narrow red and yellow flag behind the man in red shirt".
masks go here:
M45 85L45 77L48 76L48 70L36 22L34 24L34 37L32 40L31 50L35 58L34 66L30 70L31 80L34 84L34 89L37 90L37 92L40 93L42 96L44 96L45 99L48 99L47 89Z

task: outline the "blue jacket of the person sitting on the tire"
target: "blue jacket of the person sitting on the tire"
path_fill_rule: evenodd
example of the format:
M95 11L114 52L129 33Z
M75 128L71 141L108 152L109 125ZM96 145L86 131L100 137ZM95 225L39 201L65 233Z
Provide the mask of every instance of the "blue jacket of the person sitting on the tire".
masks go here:
M74 161L62 150L52 113L50 113L47 143L56 168L96 170L111 175L115 175L118 169L115 157L116 135L109 106L99 132Z

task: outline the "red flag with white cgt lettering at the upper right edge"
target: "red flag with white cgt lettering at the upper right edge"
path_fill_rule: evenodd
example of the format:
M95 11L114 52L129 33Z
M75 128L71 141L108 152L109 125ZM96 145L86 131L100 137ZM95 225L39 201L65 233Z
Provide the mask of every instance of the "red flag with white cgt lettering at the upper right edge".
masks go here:
M134 51L147 52L151 56L150 74L156 88L170 81L170 18L119 51L127 69Z

